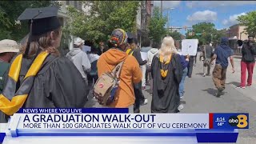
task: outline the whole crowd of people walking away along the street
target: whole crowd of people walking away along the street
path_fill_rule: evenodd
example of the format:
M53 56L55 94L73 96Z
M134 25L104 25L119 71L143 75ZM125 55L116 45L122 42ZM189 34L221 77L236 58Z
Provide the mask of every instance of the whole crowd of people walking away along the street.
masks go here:
M54 7L50 9L56 11ZM161 44L146 40L140 48L133 34L115 29L107 42L109 48L101 42L101 49L91 46L86 54L82 50L86 42L77 37L74 38L74 48L62 57L58 52L62 38L60 22L56 14L43 16L44 8L41 11L40 18L30 21L30 34L25 45L13 40L0 41L0 122L7 122L7 118L21 107L83 107L88 102L90 88L99 79L107 82L103 76L120 63L120 73L110 76L118 79L117 89L110 91L110 95L114 95L113 101L101 107L129 108L130 112L139 113L140 106L147 104L142 90L150 84L152 113L182 110L180 101L184 96L186 77L191 78L197 57L182 55L174 45L174 38L166 36ZM29 12L30 9L22 14ZM32 19L24 17L21 15L21 20ZM256 54L253 39L250 36L242 46L239 86L242 89L252 85ZM210 66L215 61L212 78L219 97L225 90L228 58L234 73L228 38L222 38L215 48L211 43L202 47L203 76L210 75ZM147 53L147 59L142 59L141 52ZM246 69L249 74L247 85ZM101 82L98 86L103 88L105 83ZM94 96L101 101L101 94Z

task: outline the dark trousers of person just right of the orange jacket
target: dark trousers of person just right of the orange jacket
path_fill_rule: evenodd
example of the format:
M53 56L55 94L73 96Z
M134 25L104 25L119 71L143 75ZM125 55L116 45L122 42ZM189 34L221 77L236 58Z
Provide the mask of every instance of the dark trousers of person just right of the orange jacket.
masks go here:
M145 99L144 95L142 94L142 81L134 84L134 95L134 113L139 113L140 103Z

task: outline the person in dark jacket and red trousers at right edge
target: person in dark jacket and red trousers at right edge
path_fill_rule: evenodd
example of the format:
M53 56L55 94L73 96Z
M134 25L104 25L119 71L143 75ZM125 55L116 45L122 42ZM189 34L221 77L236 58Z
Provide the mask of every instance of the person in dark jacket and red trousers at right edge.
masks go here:
M238 88L245 89L250 87L253 82L254 64L255 64L256 46L254 36L248 36L248 42L242 45L242 61L241 61L241 83ZM248 71L246 85L246 70Z

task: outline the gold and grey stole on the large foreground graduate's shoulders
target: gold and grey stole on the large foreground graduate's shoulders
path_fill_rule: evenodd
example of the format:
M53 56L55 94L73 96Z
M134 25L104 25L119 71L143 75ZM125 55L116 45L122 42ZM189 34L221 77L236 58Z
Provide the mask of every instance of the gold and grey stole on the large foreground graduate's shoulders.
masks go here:
M23 106L34 84L34 78L36 74L38 74L42 63L45 61L48 54L49 53L47 51L43 51L38 54L17 91L16 84L22 68L23 55L19 54L14 59L14 62L10 66L6 87L2 94L0 94L0 110L2 110L3 113L13 115ZM8 98L11 98L11 100Z

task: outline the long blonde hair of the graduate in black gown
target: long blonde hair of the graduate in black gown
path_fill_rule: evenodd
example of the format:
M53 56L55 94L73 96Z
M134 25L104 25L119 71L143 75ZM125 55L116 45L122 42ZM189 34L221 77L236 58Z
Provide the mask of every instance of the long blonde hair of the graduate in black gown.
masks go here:
M164 61L166 61L170 54L177 54L177 49L174 46L174 38L172 37L166 37L162 40L162 45L159 50L159 54L164 58Z

